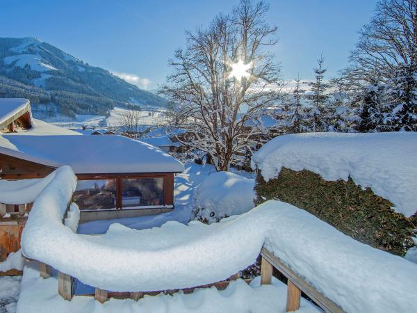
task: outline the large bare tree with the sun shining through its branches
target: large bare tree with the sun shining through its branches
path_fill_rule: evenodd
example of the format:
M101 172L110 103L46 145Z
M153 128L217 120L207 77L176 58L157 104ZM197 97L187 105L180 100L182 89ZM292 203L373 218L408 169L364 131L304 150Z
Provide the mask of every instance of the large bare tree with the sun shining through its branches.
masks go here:
M277 27L265 23L267 11L262 1L241 0L231 15L188 31L187 47L175 52L174 72L161 88L174 103L174 126L188 129L177 140L206 152L217 170L227 170L236 152L250 150L261 131L257 118L280 95L279 65L266 49L277 43Z

